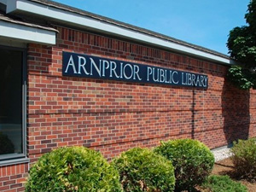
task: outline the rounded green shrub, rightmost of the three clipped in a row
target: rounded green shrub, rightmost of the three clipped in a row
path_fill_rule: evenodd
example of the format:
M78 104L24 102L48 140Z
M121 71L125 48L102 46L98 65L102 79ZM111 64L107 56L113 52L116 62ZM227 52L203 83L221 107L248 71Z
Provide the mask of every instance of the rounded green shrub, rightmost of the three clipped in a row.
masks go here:
M162 142L154 152L172 160L175 167L176 190L191 190L203 183L212 172L214 157L203 143L192 139Z

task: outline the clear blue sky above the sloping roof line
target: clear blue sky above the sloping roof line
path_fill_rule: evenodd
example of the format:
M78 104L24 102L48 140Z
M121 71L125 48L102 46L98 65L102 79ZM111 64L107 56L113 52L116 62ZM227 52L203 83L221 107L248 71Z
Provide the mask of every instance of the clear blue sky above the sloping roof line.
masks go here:
M230 30L245 26L250 0L55 0L228 55Z

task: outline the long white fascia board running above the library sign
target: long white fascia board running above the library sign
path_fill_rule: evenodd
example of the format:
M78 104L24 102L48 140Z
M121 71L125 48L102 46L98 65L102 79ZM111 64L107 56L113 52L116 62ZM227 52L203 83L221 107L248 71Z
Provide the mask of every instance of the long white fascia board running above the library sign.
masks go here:
M26 0L8 1L7 12L10 13L15 11L26 12L34 15L42 15L44 17L49 17L53 20L60 20L62 22L64 21L66 23L70 23L76 26L90 28L97 32L107 32L108 34L133 39L135 41L143 42L144 44L153 44L154 46L172 49L177 52L195 55L201 58L205 58L207 60L217 61L223 64L235 64L235 61L224 58L222 56L207 53L203 50L193 49L182 44L176 44L162 38L156 38L142 32L136 32L122 26L115 26L101 20L92 19L90 17L79 15L63 9L56 9L46 6L44 4L29 2Z

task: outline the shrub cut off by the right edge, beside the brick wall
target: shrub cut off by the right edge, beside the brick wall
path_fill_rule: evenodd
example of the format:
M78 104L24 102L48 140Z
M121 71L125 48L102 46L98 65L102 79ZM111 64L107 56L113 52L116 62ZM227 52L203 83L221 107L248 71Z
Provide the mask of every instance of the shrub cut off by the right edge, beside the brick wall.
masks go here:
M238 140L230 149L231 160L234 163L236 175L247 178L248 180L256 178L256 140Z

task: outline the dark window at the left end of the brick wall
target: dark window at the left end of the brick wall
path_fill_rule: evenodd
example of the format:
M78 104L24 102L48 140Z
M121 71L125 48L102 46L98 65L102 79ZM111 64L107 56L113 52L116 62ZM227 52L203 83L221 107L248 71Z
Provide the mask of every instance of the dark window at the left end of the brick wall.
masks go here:
M26 154L25 58L23 49L0 47L0 160Z

